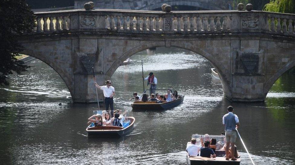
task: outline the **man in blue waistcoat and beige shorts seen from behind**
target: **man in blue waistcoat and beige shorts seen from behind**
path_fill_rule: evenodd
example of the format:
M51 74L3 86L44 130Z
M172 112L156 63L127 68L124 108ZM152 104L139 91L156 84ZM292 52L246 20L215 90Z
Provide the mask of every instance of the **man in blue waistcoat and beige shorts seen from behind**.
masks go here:
M233 114L234 108L232 106L227 107L227 111L229 113L225 114L222 118L222 124L225 126L225 141L226 141L226 147L225 147L225 154L226 154L226 160L229 160L229 144L231 147L231 154L232 154L232 160L237 160L234 157L235 154L235 140L237 139L237 133L235 131L235 128L240 126L239 118L237 115Z

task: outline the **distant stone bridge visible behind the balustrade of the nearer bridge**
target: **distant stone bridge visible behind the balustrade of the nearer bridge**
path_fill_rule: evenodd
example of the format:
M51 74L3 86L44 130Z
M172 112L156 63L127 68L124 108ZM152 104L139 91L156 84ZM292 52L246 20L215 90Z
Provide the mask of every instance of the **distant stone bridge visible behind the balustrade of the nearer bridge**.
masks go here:
M75 9L83 9L87 0L76 0ZM155 10L163 3L191 6L203 10L229 10L233 0L93 0L96 9Z

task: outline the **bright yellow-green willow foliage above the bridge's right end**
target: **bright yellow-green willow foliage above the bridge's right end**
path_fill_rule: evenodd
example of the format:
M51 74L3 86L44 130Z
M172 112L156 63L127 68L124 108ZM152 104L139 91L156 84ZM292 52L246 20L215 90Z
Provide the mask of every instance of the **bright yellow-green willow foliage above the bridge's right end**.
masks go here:
M263 11L295 14L295 0L271 0Z

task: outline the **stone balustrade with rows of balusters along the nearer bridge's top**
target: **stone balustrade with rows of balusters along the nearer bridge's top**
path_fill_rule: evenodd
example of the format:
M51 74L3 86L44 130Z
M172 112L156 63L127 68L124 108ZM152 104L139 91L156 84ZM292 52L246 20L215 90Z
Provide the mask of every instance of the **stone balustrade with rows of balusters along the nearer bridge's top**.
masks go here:
M28 34L118 32L139 34L269 33L295 36L295 14L264 11L130 11L97 9L35 13Z

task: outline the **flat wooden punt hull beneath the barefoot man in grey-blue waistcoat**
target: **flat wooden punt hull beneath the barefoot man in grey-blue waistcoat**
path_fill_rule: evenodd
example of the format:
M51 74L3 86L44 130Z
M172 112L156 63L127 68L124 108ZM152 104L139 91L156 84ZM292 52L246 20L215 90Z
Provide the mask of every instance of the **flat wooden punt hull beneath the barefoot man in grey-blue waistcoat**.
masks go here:
M225 154L225 153L224 153ZM241 159L237 160L225 160L225 157L201 157L201 156L189 156L187 155L187 164L189 165L239 165Z

